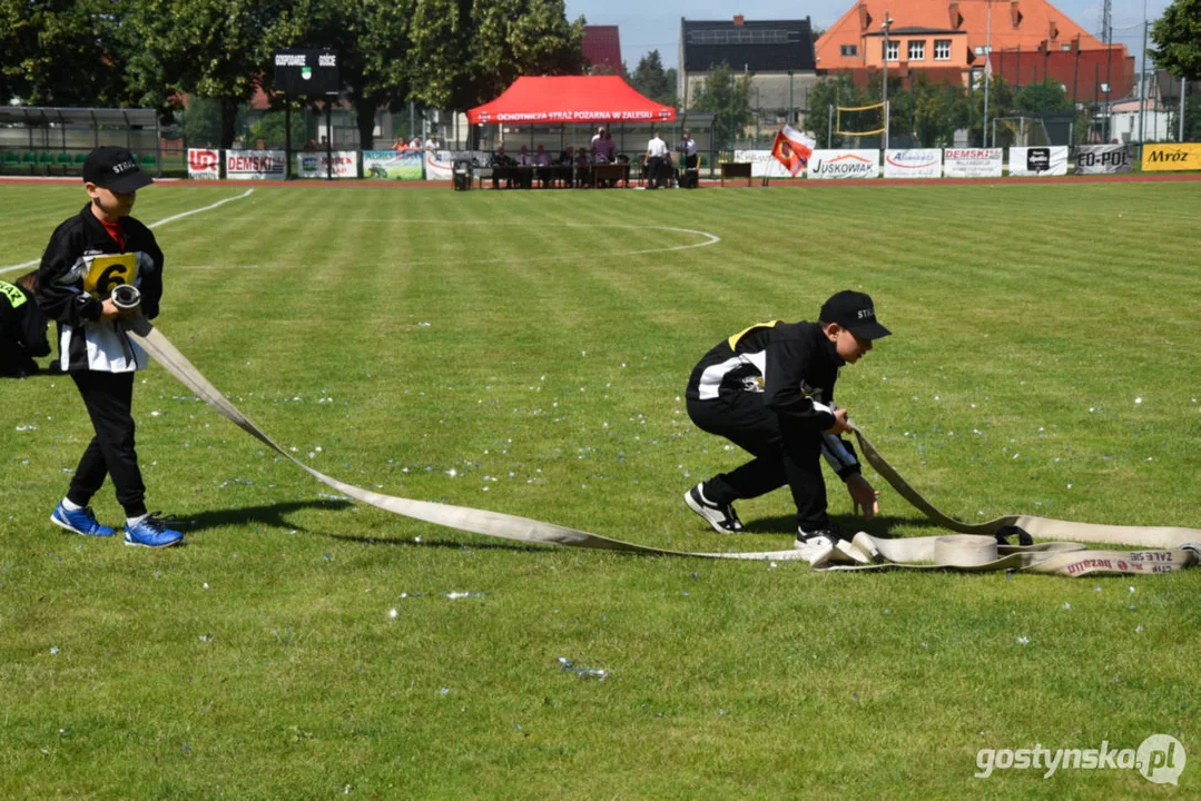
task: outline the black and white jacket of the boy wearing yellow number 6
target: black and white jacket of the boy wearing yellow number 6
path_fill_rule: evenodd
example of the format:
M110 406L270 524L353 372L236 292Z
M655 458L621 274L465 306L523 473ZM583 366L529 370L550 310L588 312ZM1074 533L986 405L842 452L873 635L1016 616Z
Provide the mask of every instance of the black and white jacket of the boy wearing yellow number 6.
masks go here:
M104 226L85 205L50 235L37 270L37 304L47 317L59 324L59 336L67 370L126 372L145 366L145 354L125 333L112 323L101 323L103 298L113 286L126 283L129 267L136 268L133 285L142 291L142 313L159 315L162 298L162 251L154 234L133 217L123 220L125 249L108 234ZM112 259L108 257L124 257ZM123 269L101 270L94 263L124 262ZM103 263L103 262L102 262ZM94 270L94 268L96 268ZM85 292L85 279L95 271L98 280ZM94 353L89 358L88 342Z

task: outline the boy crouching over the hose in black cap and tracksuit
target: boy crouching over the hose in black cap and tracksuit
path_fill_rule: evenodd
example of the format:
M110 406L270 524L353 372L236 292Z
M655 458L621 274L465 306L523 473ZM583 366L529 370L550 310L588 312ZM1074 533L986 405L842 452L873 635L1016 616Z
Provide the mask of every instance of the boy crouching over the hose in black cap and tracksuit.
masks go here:
M787 483L796 503L797 548L832 544L839 534L826 515L825 456L856 512L862 507L867 519L877 514L877 492L838 436L850 429L847 411L833 405L833 385L838 367L858 361L889 333L876 322L871 298L846 291L821 306L817 323L760 323L706 353L688 379L688 416L755 458L688 490L688 507L716 531L741 531L734 501Z

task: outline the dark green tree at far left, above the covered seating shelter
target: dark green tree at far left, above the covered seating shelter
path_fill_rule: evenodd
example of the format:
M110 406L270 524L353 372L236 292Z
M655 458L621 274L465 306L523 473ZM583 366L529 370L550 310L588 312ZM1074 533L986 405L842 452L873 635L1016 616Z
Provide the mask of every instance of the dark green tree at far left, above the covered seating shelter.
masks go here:
M0 0L0 102L126 106L123 4Z

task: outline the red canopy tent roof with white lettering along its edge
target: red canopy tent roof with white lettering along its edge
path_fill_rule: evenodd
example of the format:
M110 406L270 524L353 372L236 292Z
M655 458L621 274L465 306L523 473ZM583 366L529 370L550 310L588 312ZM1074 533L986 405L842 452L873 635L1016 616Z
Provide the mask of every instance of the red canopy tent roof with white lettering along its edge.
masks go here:
M467 112L472 125L674 120L674 108L639 95L617 76L526 76L496 100Z

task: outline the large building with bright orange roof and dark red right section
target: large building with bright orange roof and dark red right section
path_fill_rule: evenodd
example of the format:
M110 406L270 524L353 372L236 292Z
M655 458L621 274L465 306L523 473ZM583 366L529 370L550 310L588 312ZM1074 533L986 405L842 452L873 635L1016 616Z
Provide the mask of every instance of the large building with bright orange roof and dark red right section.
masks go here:
M1124 44L1106 47L1046 0L862 0L818 40L818 73L879 71L885 18L896 74L966 82L985 68L991 47L992 74L1015 86L1053 80L1080 102L1124 97L1134 86Z

